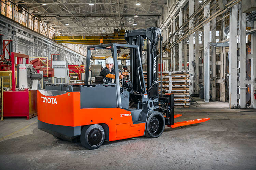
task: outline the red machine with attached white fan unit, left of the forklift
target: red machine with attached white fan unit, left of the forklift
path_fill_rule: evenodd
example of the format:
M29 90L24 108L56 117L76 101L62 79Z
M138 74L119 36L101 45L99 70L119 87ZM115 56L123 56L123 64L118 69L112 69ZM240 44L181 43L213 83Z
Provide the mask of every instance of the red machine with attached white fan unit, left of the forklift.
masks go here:
M15 57L17 58L17 86L15 76ZM23 59L26 64L23 64ZM11 52L12 90L3 92L3 114L5 117L26 117L27 120L37 116L37 81L42 74L36 74L32 65L28 64L29 56ZM33 87L34 81L34 87ZM20 86L19 86L20 85ZM23 87L20 89L20 87ZM34 88L35 90L30 90Z

